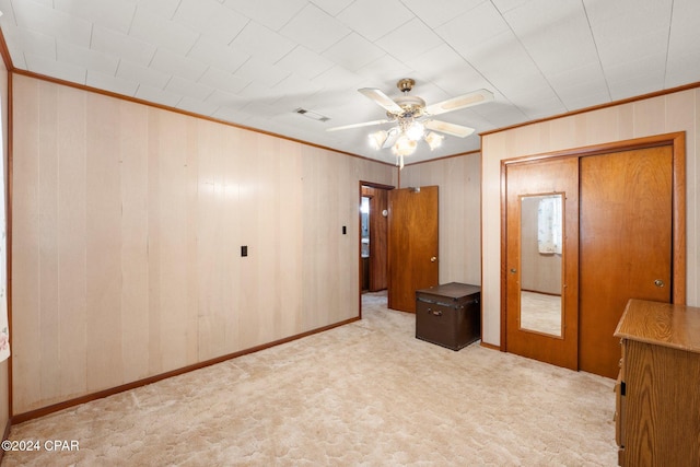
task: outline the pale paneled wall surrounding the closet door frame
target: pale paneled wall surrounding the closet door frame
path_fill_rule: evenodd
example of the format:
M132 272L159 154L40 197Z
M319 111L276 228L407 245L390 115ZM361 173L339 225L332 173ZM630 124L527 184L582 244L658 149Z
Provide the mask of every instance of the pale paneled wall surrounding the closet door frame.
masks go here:
M687 304L700 304L700 91L691 89L611 107L535 122L481 139L481 213L483 272L481 284L483 342L500 346L501 332L501 161L625 141L661 133L686 132Z

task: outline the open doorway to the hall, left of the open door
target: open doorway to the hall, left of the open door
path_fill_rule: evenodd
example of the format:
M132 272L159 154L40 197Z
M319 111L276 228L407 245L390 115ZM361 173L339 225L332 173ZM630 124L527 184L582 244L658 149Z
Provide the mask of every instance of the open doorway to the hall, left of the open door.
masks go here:
M360 316L365 301L386 305L388 191L393 188L363 182L360 184Z

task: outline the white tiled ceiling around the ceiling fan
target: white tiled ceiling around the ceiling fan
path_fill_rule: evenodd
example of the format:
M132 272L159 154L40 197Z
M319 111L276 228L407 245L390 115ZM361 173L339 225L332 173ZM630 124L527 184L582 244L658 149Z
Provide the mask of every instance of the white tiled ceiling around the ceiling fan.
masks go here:
M394 162L368 144L378 87L476 128L407 163L479 149L478 133L700 81L698 0L0 0L16 69ZM329 117L316 121L305 108ZM385 126L386 127L386 126ZM390 125L388 125L390 127Z

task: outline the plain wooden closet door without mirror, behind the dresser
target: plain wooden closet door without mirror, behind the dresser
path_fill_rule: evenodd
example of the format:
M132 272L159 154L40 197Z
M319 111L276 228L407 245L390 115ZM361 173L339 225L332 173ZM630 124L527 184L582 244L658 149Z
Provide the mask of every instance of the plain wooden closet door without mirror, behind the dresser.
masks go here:
M580 234L579 366L616 377L627 301L673 296L673 148L581 157Z

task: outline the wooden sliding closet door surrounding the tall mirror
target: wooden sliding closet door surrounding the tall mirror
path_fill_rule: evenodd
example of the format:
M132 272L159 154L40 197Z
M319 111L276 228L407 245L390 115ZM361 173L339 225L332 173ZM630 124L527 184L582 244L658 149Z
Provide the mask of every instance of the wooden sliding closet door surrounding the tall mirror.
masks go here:
M563 194L562 332L555 337L521 326L521 198ZM505 350L578 369L579 161L576 157L506 166Z

